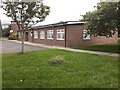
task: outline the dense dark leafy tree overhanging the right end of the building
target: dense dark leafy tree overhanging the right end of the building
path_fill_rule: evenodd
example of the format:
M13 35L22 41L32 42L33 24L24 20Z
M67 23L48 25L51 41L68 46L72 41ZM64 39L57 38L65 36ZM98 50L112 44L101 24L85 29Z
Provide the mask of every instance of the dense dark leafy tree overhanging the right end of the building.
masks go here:
M86 28L93 36L112 37L120 31L120 2L101 2L97 10L83 15Z

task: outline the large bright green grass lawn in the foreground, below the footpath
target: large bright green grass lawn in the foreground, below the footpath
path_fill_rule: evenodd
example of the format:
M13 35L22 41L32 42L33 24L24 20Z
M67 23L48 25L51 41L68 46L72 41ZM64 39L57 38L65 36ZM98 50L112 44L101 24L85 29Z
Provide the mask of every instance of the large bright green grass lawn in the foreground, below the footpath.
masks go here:
M61 56L62 64L51 64ZM117 88L118 58L58 49L3 54L3 88Z

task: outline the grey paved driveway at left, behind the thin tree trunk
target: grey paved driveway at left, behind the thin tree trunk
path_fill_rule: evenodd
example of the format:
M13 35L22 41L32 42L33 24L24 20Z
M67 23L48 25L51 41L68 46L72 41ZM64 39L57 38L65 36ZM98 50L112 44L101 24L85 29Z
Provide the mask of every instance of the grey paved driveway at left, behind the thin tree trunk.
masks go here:
M22 45L20 43L12 42L9 40L0 40L0 54L1 53L12 53L12 52L21 52L21 47ZM42 50L46 49L44 47L39 47L39 46L31 46L31 45L25 45L24 50L25 51L33 51L33 50Z

